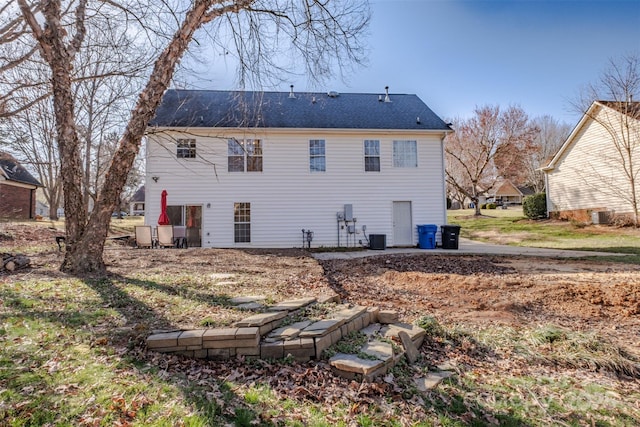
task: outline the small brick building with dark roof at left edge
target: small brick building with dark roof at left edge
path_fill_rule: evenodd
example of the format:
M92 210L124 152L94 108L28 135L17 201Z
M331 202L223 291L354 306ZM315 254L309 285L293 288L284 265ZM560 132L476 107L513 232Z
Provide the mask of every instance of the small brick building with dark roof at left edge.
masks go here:
M0 151L0 218L33 219L42 184L8 153Z

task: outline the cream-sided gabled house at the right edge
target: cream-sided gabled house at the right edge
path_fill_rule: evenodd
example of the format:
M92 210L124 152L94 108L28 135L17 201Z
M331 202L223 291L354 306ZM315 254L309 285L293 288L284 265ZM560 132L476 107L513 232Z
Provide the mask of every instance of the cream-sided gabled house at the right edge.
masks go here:
M634 168L635 191L640 197L639 113L639 102L595 101L589 107L542 168L552 218L588 221L594 211L633 213L632 190L624 168ZM628 152L623 160L618 149L624 153L624 146Z

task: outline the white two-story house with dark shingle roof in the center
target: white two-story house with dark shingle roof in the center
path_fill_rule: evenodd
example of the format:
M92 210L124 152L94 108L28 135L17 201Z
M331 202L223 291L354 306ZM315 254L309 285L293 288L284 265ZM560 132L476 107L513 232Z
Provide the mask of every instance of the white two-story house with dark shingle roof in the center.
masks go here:
M169 90L147 129L145 222L189 246L414 246L446 224L443 139L416 95Z

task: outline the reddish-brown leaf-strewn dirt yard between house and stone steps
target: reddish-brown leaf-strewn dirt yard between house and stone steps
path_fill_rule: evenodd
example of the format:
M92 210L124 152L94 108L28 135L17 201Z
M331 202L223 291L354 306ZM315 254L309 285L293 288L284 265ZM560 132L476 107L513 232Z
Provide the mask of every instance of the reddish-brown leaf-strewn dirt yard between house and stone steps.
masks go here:
M54 230L1 224L0 252L34 242L53 243ZM57 247L29 254L30 274L59 275ZM482 327L553 324L596 331L640 354L640 266L532 257L385 255L317 261L301 250L139 250L110 244L105 261L114 274L132 271L203 276L233 274L223 287L237 295L275 301L329 289L348 302L394 308L405 321L431 315L441 322ZM222 289L222 288L221 288ZM205 316L190 313L181 327Z

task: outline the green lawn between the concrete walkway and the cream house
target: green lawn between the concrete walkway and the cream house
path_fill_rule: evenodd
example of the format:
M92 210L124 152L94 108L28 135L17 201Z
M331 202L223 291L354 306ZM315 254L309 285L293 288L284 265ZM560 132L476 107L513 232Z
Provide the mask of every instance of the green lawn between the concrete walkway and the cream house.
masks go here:
M569 221L534 221L525 218L521 207L452 210L448 222L460 225L460 235L472 240L537 248L572 249L627 253L625 262L640 263L640 230L606 225L584 225ZM611 257L615 260L616 257Z

